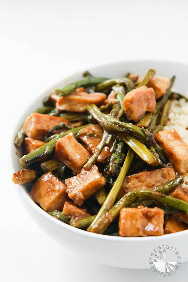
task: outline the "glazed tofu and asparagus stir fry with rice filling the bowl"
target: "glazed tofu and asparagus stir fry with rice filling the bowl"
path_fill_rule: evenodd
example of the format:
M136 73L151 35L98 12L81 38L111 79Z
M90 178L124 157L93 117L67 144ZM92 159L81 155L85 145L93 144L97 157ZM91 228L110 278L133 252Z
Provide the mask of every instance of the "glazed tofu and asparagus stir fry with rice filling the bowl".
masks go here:
M98 234L188 229L188 99L155 75L88 71L43 100L14 144L24 184L45 212Z

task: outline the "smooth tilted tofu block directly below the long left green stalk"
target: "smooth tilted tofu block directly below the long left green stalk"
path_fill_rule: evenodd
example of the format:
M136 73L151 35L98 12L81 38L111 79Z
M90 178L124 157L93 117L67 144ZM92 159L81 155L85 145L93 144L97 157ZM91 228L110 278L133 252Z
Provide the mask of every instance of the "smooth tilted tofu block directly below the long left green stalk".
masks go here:
M72 132L57 140L54 156L72 169L74 174L80 173L85 163L90 159L90 154L78 143Z

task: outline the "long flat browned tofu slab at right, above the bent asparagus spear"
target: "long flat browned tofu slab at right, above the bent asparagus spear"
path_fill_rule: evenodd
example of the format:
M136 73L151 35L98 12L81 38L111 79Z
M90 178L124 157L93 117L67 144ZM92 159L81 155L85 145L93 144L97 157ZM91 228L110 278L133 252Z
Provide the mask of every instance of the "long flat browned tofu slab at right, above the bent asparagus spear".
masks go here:
M160 168L152 171L143 171L129 175L125 178L118 198L135 190L152 190L175 178L173 168Z

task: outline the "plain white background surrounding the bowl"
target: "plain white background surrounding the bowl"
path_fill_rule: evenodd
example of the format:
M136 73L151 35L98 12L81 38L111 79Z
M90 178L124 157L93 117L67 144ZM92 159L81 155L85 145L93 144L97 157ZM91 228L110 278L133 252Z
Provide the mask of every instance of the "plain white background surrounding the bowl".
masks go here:
M188 62L187 3L0 1L0 281L187 281L188 263L173 277L162 278L151 270L80 260L27 214L11 182L7 159L9 132L21 111L67 74L134 58Z

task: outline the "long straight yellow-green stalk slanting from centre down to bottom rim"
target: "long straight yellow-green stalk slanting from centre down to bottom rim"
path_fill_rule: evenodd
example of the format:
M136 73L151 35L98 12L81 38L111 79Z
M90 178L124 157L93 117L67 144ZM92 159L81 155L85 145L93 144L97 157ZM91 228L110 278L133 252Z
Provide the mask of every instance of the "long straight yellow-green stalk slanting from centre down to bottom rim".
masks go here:
M113 187L111 188L110 192L108 193L103 205L101 206L98 214L96 215L96 218L94 219L94 221L90 224L89 228L87 229L88 231L91 231L93 229L95 229L96 227L96 222L98 221L98 219L108 210L110 210L110 208L112 207L112 205L114 204L114 202L116 201L116 198L119 194L119 191L121 189L121 186L123 184L123 181L125 179L125 176L127 174L127 171L130 167L130 164L132 162L134 153L131 149L128 150L127 156L125 158L124 164L122 166L122 169L120 171L120 174L118 175L118 178L116 179Z

